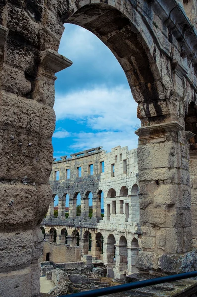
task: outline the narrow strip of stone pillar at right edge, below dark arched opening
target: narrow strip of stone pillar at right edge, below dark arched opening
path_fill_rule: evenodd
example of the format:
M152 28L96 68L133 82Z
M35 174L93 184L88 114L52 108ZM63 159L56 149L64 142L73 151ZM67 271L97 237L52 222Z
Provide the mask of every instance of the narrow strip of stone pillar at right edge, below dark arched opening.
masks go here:
M197 249L197 150L190 150L191 224L193 248Z

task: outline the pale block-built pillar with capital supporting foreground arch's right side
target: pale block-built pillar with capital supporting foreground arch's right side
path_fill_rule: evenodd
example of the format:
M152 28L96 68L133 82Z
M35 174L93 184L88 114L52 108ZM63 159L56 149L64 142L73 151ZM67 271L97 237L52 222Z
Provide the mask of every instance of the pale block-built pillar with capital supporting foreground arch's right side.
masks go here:
M192 249L185 131L170 122L140 128L136 134L143 234L137 265L141 270L185 271L183 253Z

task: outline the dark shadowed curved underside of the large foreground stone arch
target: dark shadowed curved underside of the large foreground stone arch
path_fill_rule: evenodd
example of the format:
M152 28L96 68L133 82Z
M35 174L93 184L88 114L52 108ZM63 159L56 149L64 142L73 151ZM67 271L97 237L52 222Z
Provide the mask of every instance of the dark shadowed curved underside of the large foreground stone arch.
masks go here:
M150 98L156 101L159 96L155 78L158 79L160 76L155 60L150 54L149 40L152 37L150 33L147 37L138 31L135 18L131 19L132 6L127 4L131 9L131 15L125 15L124 5L114 4L114 2L100 3L99 0L93 4L88 0L83 1L82 5L73 7L69 15L66 14L64 22L88 29L109 46L125 71L132 93L138 102L139 98L143 98L144 102L149 102ZM117 40L121 43L121 47L117 45Z

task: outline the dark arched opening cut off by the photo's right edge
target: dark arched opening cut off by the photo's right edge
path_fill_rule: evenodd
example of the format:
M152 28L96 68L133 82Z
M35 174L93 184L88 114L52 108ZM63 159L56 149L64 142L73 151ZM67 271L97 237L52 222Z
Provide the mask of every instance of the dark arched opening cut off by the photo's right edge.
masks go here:
M191 102L185 117L186 138L189 139L190 150L197 150L197 105ZM195 135L191 135L190 132Z

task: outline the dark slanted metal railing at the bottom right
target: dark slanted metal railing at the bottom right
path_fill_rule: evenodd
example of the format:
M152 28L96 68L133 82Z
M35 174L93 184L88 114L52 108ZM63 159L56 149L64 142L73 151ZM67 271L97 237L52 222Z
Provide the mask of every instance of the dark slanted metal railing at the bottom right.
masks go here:
M84 292L74 293L74 294L70 294L70 295L62 295L59 297L68 297L68 296L70 296L70 297L97 297L97 296L103 296L103 295L128 291L128 290L132 290L132 289L139 289L139 288L143 288L143 287L183 280L183 279L196 277L196 276L197 276L197 271L192 271L192 272L180 273L180 274L169 275L169 276L164 276L164 277L158 277L158 278L149 279L149 280L145 280L145 281L139 281L139 282L133 282L133 283L128 283L128 284L113 286L113 287L101 288L101 289L96 289L96 290L91 290L91 291L84 291Z

